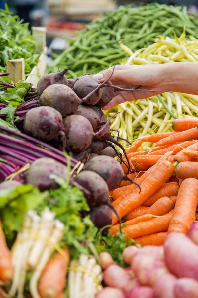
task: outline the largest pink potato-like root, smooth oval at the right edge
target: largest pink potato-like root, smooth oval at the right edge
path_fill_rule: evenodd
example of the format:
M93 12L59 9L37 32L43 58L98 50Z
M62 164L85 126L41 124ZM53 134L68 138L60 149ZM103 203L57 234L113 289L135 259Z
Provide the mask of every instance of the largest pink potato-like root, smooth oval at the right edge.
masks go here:
M164 243L164 256L173 274L198 280L198 246L186 235L168 235Z

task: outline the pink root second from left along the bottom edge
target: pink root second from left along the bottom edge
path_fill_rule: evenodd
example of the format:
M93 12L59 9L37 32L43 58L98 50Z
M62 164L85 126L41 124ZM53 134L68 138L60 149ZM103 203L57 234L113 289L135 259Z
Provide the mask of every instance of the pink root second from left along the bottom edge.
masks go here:
M155 298L154 290L147 286L137 286L127 292L126 298Z

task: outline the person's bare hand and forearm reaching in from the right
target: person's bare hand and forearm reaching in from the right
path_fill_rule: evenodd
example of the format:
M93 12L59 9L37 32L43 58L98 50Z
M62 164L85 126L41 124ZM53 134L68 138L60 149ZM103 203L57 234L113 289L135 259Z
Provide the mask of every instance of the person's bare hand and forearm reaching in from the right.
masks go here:
M96 74L100 82L112 74L113 67ZM116 65L111 82L119 87L131 89L149 89L150 91L121 91L105 106L108 110L125 101L149 98L165 91L198 95L198 64L192 62L174 62L150 65ZM161 90L156 93L153 90Z

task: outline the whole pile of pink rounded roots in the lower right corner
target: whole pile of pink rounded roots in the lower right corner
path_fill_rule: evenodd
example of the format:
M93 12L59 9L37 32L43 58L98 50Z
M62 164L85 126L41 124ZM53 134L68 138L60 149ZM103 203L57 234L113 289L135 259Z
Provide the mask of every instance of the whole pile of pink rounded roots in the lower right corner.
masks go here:
M163 246L129 246L122 268L100 255L107 285L96 298L198 298L198 222L188 236L169 234Z

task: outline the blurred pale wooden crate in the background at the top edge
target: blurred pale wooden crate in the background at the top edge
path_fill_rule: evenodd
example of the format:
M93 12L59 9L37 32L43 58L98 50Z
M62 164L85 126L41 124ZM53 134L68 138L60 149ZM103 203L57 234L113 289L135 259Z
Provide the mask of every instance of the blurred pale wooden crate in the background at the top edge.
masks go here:
M93 19L93 16L99 16L99 13L114 10L116 3L113 0L48 0L48 6L51 14L64 14L72 18L86 16Z

